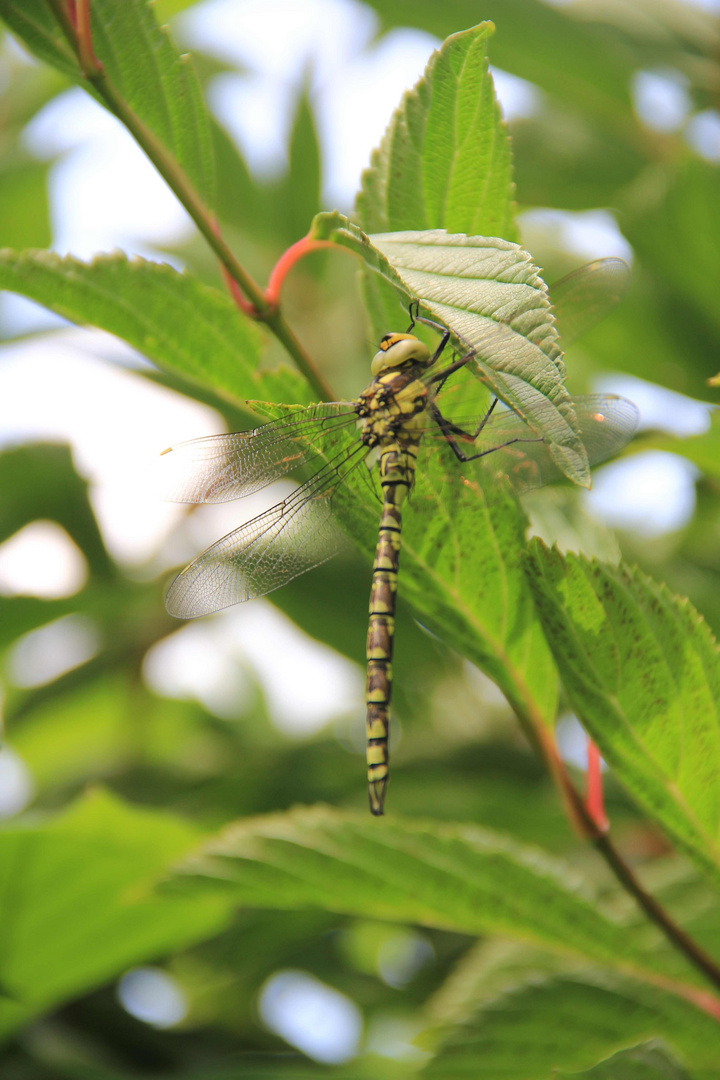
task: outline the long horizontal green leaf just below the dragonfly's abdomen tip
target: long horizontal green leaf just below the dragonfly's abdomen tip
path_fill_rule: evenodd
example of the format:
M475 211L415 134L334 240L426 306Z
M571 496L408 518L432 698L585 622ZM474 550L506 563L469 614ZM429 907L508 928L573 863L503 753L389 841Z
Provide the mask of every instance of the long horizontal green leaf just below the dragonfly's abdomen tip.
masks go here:
M219 890L237 904L501 933L566 956L634 964L623 927L561 864L472 825L378 824L367 814L297 809L229 826L179 875L184 890Z

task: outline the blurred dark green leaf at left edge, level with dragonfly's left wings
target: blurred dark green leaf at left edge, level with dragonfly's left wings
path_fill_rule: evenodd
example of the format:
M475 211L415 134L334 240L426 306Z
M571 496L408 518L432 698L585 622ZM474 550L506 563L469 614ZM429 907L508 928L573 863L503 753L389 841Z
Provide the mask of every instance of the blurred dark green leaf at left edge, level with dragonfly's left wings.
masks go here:
M0 455L0 543L38 518L57 522L93 573L114 576L90 507L87 483L74 471L67 446L18 446Z

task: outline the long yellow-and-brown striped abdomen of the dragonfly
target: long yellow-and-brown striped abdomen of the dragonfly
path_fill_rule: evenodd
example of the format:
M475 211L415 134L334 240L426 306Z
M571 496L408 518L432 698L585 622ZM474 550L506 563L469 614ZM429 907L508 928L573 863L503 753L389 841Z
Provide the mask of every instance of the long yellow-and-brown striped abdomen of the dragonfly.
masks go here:
M400 554L400 507L412 485L417 447L383 453L380 475L382 517L372 564L370 621L367 632L367 783L370 812L383 812L388 785L388 737L393 689L395 594Z

